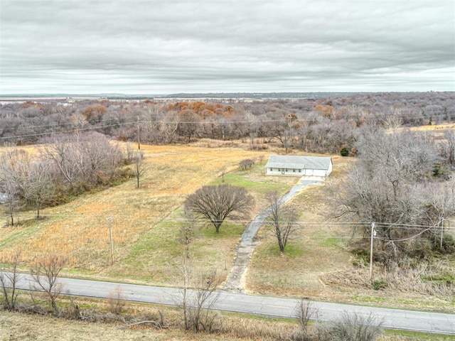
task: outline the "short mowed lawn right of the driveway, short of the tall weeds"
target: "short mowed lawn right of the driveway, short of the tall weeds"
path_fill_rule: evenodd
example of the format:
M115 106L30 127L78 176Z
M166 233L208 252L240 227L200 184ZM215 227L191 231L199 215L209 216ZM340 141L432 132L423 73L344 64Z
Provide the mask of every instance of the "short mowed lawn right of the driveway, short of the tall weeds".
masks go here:
M332 161L333 172L328 183L343 178L353 158L333 156ZM280 254L277 239L267 227L259 230L259 246L247 273L247 291L311 298L333 297L333 289L326 288L320 276L348 266L350 254L343 240L349 231L342 224L333 224L328 218L331 209L326 186L309 186L288 202L287 205L299 212L299 220L284 254Z

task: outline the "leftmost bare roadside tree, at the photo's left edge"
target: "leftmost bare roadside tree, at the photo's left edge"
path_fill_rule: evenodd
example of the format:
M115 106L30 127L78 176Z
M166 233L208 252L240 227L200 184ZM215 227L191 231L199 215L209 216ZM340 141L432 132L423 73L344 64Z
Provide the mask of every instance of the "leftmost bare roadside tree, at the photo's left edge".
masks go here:
M11 259L2 259L2 263L11 263L12 267L7 271L6 267L0 264L0 286L3 291L4 307L8 310L15 310L17 304L17 284L21 280L18 274L18 264L21 258L21 251L17 251Z

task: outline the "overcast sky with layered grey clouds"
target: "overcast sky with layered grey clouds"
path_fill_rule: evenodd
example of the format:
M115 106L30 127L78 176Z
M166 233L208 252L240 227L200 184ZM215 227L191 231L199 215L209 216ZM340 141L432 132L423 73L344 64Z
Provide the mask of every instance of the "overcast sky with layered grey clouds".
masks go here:
M0 0L0 95L455 91L453 0Z

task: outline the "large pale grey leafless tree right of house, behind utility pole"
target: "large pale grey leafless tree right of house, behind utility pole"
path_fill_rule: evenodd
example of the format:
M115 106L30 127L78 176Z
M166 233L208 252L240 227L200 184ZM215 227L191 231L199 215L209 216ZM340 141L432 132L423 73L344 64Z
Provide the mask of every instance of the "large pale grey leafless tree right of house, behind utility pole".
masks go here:
M412 251L405 241L414 235L429 237L428 225L440 229L441 214L451 205L450 200L444 203L432 195L439 193L432 190L439 185L428 178L437 153L422 136L407 131L384 134L372 126L363 129L358 148L358 162L346 181L332 191L337 217L365 223L364 233L370 233L370 224L375 222L382 260L398 260L400 254ZM422 228L397 229L397 224Z

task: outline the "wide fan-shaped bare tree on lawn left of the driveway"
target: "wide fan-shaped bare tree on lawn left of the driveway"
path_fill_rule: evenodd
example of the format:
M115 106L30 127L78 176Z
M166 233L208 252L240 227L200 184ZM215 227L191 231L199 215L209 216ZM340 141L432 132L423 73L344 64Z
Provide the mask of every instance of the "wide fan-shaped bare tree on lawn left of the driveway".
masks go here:
M185 207L207 218L218 233L227 217L246 217L253 202L245 188L223 184L198 189L187 197Z

